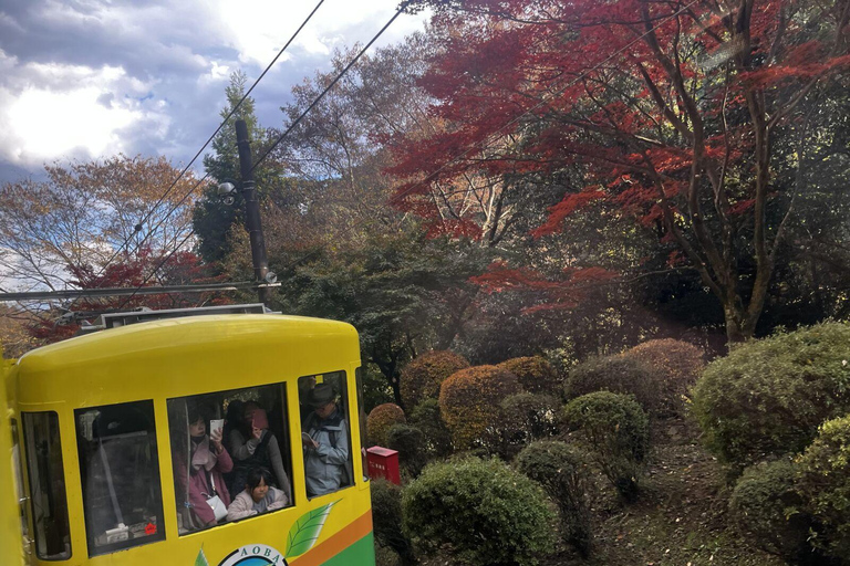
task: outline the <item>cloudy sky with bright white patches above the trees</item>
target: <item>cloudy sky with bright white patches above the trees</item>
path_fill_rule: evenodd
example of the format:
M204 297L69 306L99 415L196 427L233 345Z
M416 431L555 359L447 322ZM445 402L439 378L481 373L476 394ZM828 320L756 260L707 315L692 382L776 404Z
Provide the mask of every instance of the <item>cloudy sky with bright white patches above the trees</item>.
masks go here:
M123 151L187 163L219 123L230 73L250 82L318 0L0 0L0 181ZM281 125L292 84L366 43L398 0L324 0L252 96ZM379 45L422 29L401 15Z

